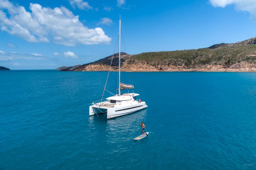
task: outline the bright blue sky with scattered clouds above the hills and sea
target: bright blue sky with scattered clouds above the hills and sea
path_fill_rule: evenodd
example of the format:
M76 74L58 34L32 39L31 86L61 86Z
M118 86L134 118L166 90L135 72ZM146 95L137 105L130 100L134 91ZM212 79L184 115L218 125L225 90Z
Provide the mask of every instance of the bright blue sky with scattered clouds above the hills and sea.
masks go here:
M0 0L0 66L54 69L109 56L119 14L128 54L256 36L256 0Z

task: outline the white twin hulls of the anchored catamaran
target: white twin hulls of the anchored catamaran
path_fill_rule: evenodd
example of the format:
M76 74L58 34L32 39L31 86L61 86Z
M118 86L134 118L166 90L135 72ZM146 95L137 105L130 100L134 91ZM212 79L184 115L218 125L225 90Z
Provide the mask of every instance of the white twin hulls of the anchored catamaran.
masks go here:
M127 115L130 113L145 109L146 107L147 105L145 102L141 102L133 105L111 107L108 109L104 109L102 107L97 107L97 106L90 106L89 115L92 116L96 114L107 113L107 119L111 119L111 118Z

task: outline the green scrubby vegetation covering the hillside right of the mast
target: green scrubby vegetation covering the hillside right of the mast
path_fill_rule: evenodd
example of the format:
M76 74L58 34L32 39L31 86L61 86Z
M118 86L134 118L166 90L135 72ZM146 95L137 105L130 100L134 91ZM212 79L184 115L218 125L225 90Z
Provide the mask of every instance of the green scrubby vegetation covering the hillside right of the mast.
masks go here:
M220 48L200 48L198 50L144 52L133 55L126 60L127 64L134 62L146 62L157 65L186 65L188 68L200 65L224 65L247 61L256 63L256 45L239 45Z

